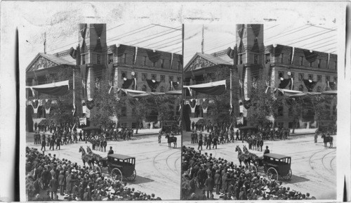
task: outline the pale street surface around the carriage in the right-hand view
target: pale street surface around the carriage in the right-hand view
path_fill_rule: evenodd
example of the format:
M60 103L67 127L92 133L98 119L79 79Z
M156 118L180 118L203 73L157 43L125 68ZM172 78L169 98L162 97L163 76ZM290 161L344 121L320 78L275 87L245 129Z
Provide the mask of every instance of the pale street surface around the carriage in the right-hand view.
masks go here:
M265 145L272 153L291 156L293 176L290 181L283 181L284 185L303 193L310 192L317 199L336 199L336 136L333 136L334 148L324 148L322 141L320 136L317 143L314 143L313 135L293 136L289 140L265 141ZM235 147L239 145L242 149L243 144L249 146L235 141L218 145L217 150L206 150L205 147L203 152L239 164ZM191 144L190 132L183 131L183 145L197 149L197 144ZM250 151L260 157L263 155L263 152Z

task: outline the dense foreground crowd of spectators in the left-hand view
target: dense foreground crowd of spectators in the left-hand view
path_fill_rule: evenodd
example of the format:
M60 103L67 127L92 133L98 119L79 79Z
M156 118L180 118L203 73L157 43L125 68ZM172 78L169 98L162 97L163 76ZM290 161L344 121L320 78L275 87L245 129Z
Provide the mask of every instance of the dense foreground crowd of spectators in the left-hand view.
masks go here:
M161 200L154 194L135 191L126 183L92 171L55 155L26 148L26 190L28 201L125 201ZM60 192L60 197L58 195Z

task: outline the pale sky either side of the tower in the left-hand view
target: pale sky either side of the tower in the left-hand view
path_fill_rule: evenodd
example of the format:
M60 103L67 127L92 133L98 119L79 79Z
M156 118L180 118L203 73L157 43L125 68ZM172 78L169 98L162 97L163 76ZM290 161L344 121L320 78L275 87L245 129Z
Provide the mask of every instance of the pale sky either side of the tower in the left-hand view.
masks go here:
M81 44L78 41L78 25L69 25L66 29L67 35L58 34L57 29L52 27L23 29L25 34L20 42L23 53L27 54L20 61L21 65L26 67L37 53L44 52L45 32L46 53L57 53ZM127 44L181 54L182 25L107 23L107 46L112 44Z

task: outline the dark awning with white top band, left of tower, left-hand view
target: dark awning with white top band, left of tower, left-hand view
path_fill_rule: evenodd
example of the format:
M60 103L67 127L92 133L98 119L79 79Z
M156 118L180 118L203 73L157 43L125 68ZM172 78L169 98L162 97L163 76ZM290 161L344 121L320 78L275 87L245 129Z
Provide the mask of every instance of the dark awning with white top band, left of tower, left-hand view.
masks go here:
M69 90L69 83L68 83L68 80L66 80L66 81L54 82L54 83L51 83L51 84L41 84L41 85L36 85L36 86L26 86L26 88L31 89L32 92L33 92L33 95L34 95L34 90L35 90L35 91L38 91L39 93L45 93L45 94L48 94L48 95L63 96Z

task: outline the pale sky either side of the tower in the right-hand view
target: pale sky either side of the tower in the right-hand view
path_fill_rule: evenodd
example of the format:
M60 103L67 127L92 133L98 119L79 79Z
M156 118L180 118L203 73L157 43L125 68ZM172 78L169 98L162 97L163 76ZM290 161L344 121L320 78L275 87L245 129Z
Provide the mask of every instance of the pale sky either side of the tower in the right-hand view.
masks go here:
M185 65L196 52L201 52L203 25L185 25ZM223 51L235 46L236 24L204 25L204 53ZM264 44L282 44L314 51L336 53L337 30L334 22L324 25L308 24L264 24Z

